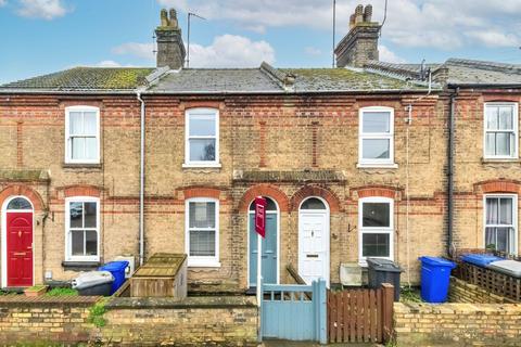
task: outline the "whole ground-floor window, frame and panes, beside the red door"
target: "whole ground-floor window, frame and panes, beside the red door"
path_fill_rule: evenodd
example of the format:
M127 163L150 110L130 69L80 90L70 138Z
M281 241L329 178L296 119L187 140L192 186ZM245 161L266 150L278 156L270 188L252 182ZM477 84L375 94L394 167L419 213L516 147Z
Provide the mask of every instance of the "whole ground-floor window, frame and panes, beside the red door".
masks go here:
M99 260L100 201L71 197L65 206L66 259Z

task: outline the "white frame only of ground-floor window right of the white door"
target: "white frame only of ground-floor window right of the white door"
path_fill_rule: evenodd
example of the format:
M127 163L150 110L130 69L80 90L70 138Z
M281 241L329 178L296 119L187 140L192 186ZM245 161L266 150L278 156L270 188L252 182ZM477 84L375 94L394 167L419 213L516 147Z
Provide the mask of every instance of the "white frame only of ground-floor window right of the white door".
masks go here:
M385 203L389 204L389 227L364 227L364 210L365 203ZM394 260L394 200L390 197L370 196L358 200L358 264L363 267L367 266L366 258L363 256L363 235L364 234L383 234L389 233L389 257L371 257Z

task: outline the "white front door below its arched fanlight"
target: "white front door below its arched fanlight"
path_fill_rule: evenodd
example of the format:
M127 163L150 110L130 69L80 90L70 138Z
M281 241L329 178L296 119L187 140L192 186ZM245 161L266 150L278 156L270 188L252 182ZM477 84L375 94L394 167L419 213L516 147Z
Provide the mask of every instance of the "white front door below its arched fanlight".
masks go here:
M301 210L298 217L298 274L307 284L321 278L329 286L329 214Z

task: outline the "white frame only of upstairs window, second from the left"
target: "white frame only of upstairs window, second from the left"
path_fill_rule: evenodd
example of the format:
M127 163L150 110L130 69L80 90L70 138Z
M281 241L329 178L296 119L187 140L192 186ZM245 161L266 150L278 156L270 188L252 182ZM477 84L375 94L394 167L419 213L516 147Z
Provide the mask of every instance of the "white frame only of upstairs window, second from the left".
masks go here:
M215 116L215 136L190 136L190 117ZM215 139L215 160L190 160L190 140ZM219 111L216 108L190 108L185 113L185 164L182 167L220 167L219 162Z

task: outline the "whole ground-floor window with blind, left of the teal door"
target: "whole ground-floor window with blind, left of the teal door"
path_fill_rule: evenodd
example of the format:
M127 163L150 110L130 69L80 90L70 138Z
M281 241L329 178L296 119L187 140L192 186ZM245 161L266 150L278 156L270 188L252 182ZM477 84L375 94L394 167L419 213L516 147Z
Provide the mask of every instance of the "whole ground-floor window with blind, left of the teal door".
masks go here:
M218 266L219 202L191 198L186 208L188 265Z

